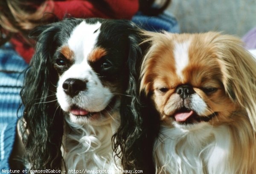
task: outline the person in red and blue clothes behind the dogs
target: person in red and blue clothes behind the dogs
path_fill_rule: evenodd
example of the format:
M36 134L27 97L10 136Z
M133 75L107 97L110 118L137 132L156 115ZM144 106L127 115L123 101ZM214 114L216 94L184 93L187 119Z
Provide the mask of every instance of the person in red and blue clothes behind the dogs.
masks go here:
M17 160L12 158L12 151L17 119L23 113L19 96L22 72L34 53L35 41L29 38L29 32L65 17L128 19L151 31L178 32L174 17L159 15L169 3L170 0L0 0L0 173L19 168L12 165Z

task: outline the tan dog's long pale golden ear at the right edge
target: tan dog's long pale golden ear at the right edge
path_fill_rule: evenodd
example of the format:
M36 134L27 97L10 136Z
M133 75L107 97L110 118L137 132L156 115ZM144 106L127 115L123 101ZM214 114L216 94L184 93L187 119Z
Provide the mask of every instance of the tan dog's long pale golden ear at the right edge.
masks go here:
M230 35L218 35L213 40L223 73L226 93L243 107L256 131L256 60L242 42Z

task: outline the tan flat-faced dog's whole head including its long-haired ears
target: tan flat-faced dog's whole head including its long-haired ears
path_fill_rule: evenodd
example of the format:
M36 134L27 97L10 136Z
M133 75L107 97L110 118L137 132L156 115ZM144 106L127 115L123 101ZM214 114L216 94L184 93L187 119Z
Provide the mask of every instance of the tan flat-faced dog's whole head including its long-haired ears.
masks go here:
M256 61L239 39L215 32L145 35L151 47L140 91L150 96L164 124L232 124L233 113L245 112L256 128Z

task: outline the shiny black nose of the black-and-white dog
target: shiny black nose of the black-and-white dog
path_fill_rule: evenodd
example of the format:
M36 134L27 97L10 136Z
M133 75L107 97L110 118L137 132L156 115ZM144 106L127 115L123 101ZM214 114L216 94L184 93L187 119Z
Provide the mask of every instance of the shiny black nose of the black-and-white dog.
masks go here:
M81 81L76 78L68 78L63 82L62 88L67 95L74 97L80 91L86 90L87 85L85 81Z

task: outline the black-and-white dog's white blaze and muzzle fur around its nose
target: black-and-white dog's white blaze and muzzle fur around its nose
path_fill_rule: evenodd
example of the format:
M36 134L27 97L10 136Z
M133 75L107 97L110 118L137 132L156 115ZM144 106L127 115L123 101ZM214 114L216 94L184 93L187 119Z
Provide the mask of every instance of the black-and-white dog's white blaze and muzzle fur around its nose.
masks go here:
M75 104L89 112L99 112L107 107L113 97L109 87L102 84L87 62L88 55L96 46L100 26L99 22L88 24L83 21L73 29L67 40L67 47L74 55L74 64L60 76L56 94L58 103L64 111L69 111L70 106ZM67 95L62 85L68 78L85 81L86 91L80 91L74 97Z

